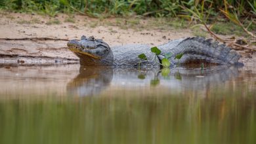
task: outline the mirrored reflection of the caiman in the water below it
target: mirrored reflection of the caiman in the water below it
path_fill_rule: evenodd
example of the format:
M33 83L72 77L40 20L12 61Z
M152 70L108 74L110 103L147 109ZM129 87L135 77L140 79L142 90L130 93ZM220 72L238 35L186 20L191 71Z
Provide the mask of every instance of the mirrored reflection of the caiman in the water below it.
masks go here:
M79 74L67 84L71 96L117 95L130 92L144 95L173 94L177 92L204 93L212 86L238 77L237 67L211 66L206 69L179 67L177 69L136 69L111 67L80 67ZM106 94L104 94L106 95ZM132 94L131 94L132 95ZM205 94L202 94L205 96Z

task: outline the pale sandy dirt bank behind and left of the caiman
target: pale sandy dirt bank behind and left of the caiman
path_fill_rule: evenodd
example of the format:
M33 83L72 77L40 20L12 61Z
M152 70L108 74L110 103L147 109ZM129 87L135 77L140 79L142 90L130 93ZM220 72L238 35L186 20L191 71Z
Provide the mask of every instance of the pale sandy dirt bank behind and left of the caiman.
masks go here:
M99 20L86 16L70 17L59 14L55 18L37 14L0 12L0 38L51 37L79 39L93 35L110 46L147 44L157 46L171 39L194 36L190 29L150 25L150 20L117 22L117 18ZM122 26L122 24L129 24ZM117 23L119 24L118 26ZM143 26L143 27L142 27ZM151 27L150 27L151 26ZM209 37L209 35L207 36ZM78 58L66 48L67 41L5 41L0 40L0 64L78 63ZM240 52L245 67L255 67L256 54Z

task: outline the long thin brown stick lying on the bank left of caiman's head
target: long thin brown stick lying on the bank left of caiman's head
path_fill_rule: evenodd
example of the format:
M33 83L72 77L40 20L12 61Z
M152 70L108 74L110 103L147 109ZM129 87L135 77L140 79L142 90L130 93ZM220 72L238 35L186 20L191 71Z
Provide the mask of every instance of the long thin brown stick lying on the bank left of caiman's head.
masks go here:
M57 39L51 37L23 37L23 38L0 38L0 40L5 41L70 41L69 39Z

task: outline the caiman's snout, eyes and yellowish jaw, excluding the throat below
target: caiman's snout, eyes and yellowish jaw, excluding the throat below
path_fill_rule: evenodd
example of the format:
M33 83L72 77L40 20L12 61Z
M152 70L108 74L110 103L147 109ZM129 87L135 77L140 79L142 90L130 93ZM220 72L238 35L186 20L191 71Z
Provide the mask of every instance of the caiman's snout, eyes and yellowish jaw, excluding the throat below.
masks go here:
M81 37L81 41L71 40L68 42L68 48L74 52L80 60L88 60L90 58L100 60L110 52L110 47L94 37Z

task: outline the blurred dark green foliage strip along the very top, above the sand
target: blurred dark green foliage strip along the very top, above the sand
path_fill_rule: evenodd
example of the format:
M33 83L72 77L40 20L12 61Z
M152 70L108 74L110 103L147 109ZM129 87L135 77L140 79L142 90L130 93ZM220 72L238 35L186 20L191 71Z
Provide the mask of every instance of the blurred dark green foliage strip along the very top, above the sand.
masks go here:
M239 17L255 17L256 14L255 0L227 0L228 8L221 0L205 2L205 7L212 5L211 10L205 10L212 16L219 14L219 9L234 9ZM181 6L194 10L195 7L201 7L201 3L200 0L0 0L0 9L43 12L49 16L55 16L58 12L79 12L90 16L137 14L170 17L186 14Z

